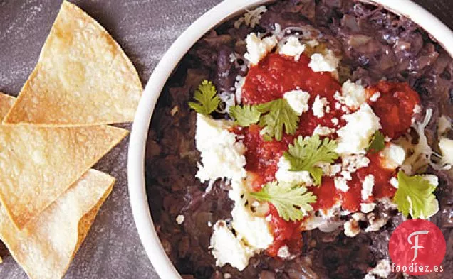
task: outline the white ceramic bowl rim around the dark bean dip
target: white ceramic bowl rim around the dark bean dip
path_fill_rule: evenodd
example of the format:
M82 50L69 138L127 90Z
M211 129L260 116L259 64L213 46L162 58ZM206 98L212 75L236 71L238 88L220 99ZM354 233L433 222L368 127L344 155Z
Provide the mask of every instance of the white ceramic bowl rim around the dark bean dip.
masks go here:
M453 54L453 33L441 21L432 16L431 13L422 9L410 0L364 0L370 3L385 6L412 21L418 23L429 34L432 35L444 48ZM155 104L167 82L168 77L177 66L179 60L187 53L189 48L199 38L219 23L224 22L231 16L236 16L252 6L264 4L266 0L224 0L213 9L207 11L202 17L195 21L184 33L173 43L167 53L152 73L145 92L135 115L135 121L130 134L129 157L127 174L129 179L130 203L134 215L140 239L145 247L147 256L162 279L181 279L181 276L167 257L152 222L145 190L145 144L148 128L150 126L152 112ZM152 202L152 200L150 201Z

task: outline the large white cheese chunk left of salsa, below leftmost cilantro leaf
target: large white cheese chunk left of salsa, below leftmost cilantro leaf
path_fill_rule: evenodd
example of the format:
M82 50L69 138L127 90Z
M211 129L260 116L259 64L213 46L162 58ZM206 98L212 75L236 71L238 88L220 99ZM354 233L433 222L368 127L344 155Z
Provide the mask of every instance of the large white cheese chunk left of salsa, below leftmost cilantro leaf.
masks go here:
M214 120L202 114L197 115L195 143L201 153L197 178L204 182L217 178L241 180L246 177L246 148L228 128L231 121Z

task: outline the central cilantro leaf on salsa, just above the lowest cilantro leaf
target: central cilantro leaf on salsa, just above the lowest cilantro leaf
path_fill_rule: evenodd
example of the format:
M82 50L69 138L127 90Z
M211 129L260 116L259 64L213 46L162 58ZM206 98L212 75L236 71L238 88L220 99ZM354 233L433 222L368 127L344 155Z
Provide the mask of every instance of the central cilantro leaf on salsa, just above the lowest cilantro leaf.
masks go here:
M283 153L286 160L291 163L290 171L306 170L311 174L315 185L321 185L323 170L316 167L316 163L333 163L338 158L335 152L337 142L319 135L304 139L299 136L294 140L294 145L288 146L288 151Z

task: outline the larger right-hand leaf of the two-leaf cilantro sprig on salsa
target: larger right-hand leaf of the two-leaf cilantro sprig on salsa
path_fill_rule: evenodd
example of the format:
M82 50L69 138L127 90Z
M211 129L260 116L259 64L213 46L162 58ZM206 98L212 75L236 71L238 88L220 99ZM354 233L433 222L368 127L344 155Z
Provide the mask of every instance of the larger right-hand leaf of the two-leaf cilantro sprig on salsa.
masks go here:
M281 141L283 136L283 126L286 133L293 135L296 133L299 116L288 104L286 99L276 99L265 104L259 104L257 109L261 112L259 126L264 127L265 138L274 137Z

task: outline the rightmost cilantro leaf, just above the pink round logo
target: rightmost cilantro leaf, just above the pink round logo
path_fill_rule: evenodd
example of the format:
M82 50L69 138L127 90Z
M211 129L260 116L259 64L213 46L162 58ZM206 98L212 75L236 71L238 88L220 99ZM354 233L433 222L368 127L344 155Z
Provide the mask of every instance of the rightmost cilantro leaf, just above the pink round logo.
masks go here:
M398 189L393 197L398 211L407 217L427 219L437 212L439 204L432 194L436 186L420 176L408 176L402 170L398 172Z

